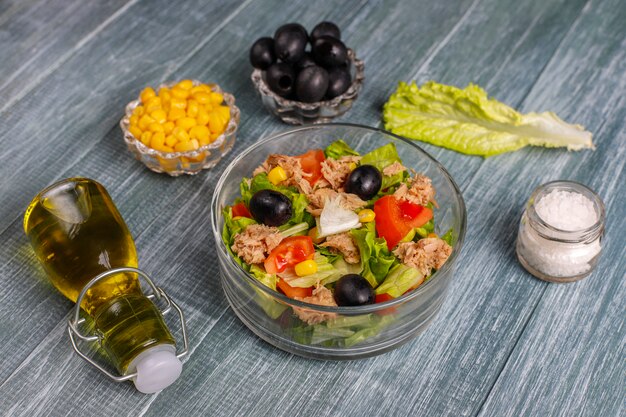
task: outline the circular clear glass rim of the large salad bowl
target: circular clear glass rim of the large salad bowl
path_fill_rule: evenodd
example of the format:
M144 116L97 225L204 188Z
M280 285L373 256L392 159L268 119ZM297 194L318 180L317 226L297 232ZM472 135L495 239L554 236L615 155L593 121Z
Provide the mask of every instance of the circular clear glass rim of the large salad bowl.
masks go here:
M445 180L448 181L448 183L451 185L452 189L454 190L454 193L455 193L456 198L458 199L459 208L460 208L460 211L461 211L461 219L460 219L461 220L461 225L460 225L459 235L458 235L457 240L456 240L456 242L454 244L454 247L452 248L452 253L451 253L450 257L448 258L448 260L446 261L446 263L443 265L443 267L441 269L439 269L438 271L435 271L435 273L432 274L431 278L428 281L426 281L424 284L420 285L415 290L410 291L409 293L404 294L404 295L402 295L400 297L394 298L392 300L384 301L382 303L369 304L369 305L365 305L365 306L329 307L329 306L321 306L321 305L318 305L318 304L311 304L311 303L307 303L307 302L304 302L304 301L299 301L299 300L295 300L293 298L289 298L289 297L285 296L284 294L282 294L282 293L280 293L278 291L272 290L271 288L269 288L266 285L262 284L257 279L255 279L252 275L250 275L246 270L244 270L241 267L241 265L239 265L237 262L235 262L233 257L230 255L230 253L226 249L226 246L224 245L224 242L222 241L222 230L218 226L218 220L219 220L219 217L221 216L221 212L222 212L221 208L218 207L218 204L219 204L219 197L220 197L220 194L221 194L221 190L223 189L224 183L226 182L226 177L228 177L228 175L234 169L234 167L236 165L238 165L239 162L243 158L248 156L250 153L255 152L258 148L262 147L263 145L267 144L268 142L271 142L273 140L276 140L276 139L278 139L280 137L283 137L283 136L286 136L286 135L294 134L296 132L301 132L301 131L305 131L305 130L318 130L318 129L323 129L323 128L326 128L326 127L346 127L346 128L353 128L353 129L364 129L364 130L369 130L371 132L377 132L377 133L381 133L383 135L389 135L391 137L394 137L395 139L397 139L399 141L402 141L402 142L406 143L409 146L414 147L416 151L420 152L423 156L425 156L426 158L430 159L435 164L435 166L439 169L439 172L443 175ZM343 315L359 315L359 314L373 313L373 312L377 312L377 311L380 311L380 310L385 310L385 309L387 309L389 307L393 307L393 306L396 306L396 305L399 305L399 304L403 304L405 302L410 302L410 301L418 298L421 294L423 294L425 291L427 291L433 285L433 282L437 280L439 275L446 274L446 273L450 272L451 268L453 268L454 261L456 260L457 256L459 255L459 253L461 251L461 248L463 246L463 241L465 239L466 221L467 221L467 211L466 211L466 208L465 208L465 201L463 200L463 196L461 194L461 191L459 190L459 187L454 182L454 180L452 179L452 177L450 176L448 171L435 158L433 158L428 152L423 150L421 147L419 147L417 144L413 143L409 139L405 139L405 138L403 138L401 136L395 135L395 134L393 134L391 132L388 132L386 130L383 130L383 129L374 128L374 127L365 126L365 125L358 125L358 124L353 124L353 123L320 123L320 124L316 124L316 125L301 126L301 127L297 127L297 128L286 130L284 132L272 135L272 136L270 136L268 138L265 138L265 139L262 139L262 140L256 142L252 146L250 146L247 149L243 150L224 169L224 171L222 172L222 175L220 176L220 179L218 180L217 184L215 185L215 192L213 193L213 198L212 198L212 201L211 201L211 223L212 223L211 226L213 228L213 236L215 238L215 241L218 242L216 249L218 251L220 251L221 255L226 256L226 258L228 259L228 262L229 262L229 266L234 268L234 270L238 273L239 277L242 277L244 280L246 280L249 283L251 283L254 287L260 289L261 291L265 292L266 294L268 294L269 296L271 296L273 298L277 298L278 300L280 300L282 303L284 303L286 305L301 307L301 308L305 308L305 309L308 309L308 310L315 310L315 311L319 311L319 312L338 313L338 314L343 314Z

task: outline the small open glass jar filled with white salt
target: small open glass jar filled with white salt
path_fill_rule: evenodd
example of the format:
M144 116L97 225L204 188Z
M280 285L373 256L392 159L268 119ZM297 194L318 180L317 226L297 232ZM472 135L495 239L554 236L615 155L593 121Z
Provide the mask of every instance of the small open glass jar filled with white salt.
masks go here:
M544 281L583 279L600 258L604 220L604 203L588 187L573 181L543 184L522 214L517 259Z

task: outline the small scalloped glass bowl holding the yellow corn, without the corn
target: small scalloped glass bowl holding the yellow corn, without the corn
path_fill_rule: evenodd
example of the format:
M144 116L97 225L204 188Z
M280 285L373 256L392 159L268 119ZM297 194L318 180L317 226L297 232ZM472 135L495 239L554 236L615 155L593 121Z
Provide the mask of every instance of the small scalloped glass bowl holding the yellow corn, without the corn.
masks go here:
M167 82L160 84L156 91L161 87L172 87L176 83ZM194 86L199 84L201 84L200 81L193 80ZM173 177L181 174L195 175L203 169L213 168L232 149L239 126L239 108L235 106L235 97L222 91L217 84L208 85L212 91L224 96L224 102L230 108L230 121L224 133L218 136L215 141L193 151L161 152L144 145L139 138L133 136L128 130L130 116L141 101L138 98L126 105L124 117L120 121L120 127L124 133L124 142L126 142L128 150L137 160L143 162L145 166L154 172L164 172Z

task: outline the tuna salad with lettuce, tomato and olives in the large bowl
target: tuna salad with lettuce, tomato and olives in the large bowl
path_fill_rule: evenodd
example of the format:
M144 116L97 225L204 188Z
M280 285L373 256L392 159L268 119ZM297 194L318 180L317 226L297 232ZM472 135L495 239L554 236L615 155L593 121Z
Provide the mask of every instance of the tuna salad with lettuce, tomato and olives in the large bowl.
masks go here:
M303 155L272 154L225 207L222 238L254 278L289 298L360 306L423 285L452 252L435 233L436 190L393 143L359 155L342 140ZM334 313L293 309L306 325Z

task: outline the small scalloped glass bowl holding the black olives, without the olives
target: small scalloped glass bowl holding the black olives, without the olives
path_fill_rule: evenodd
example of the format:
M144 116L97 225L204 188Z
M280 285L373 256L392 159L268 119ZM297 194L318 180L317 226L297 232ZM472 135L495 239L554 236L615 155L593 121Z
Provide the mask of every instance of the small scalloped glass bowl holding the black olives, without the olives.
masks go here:
M259 69L252 72L252 82L265 108L283 122L292 125L327 123L350 110L363 86L365 64L357 59L352 49L348 49L348 60L352 84L345 93L332 100L303 103L283 98L269 88L265 82L265 71Z

